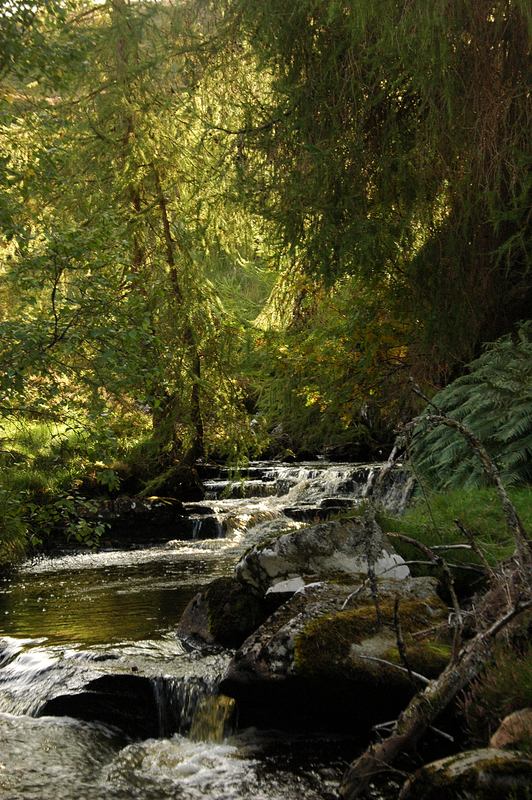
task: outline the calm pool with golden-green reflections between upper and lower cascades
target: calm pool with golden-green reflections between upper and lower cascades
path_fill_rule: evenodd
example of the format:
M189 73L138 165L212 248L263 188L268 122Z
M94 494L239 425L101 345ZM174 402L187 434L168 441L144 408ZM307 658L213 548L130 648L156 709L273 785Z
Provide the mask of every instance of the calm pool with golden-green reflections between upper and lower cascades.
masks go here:
M198 544L28 562L0 580L0 636L81 646L160 638L202 585L231 571L218 540Z

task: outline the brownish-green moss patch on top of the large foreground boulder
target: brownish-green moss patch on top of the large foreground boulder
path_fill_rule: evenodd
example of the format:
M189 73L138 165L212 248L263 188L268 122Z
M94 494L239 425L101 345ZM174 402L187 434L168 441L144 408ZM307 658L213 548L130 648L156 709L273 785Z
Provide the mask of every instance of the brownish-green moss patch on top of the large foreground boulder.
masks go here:
M394 632L394 598L386 597L379 604L381 628L388 635ZM418 631L433 624L434 617L441 617L445 606L436 597L427 600L404 600L400 605L399 616L403 634ZM298 674L317 677L340 673L350 678L361 678L366 675L375 679L385 673L397 673L399 670L385 665L363 662L349 658L351 646L379 633L378 620L374 604L360 605L347 611L326 614L310 621L295 642L295 666ZM432 660L436 654L432 653ZM441 656L441 653L440 653ZM426 654L428 660L428 650ZM421 670L420 670L421 671ZM404 680L404 679L403 679Z

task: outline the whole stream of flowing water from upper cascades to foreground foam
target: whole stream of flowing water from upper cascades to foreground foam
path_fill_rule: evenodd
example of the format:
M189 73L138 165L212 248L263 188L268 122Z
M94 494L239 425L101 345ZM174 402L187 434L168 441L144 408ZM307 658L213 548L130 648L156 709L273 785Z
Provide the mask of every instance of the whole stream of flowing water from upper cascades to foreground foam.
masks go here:
M352 742L238 730L216 693L231 653L174 631L264 535L369 495L398 510L411 484L379 469L252 464L205 482L192 540L169 530L164 545L35 559L2 579L0 800L336 797Z

